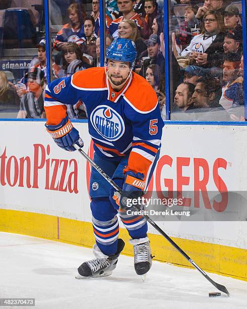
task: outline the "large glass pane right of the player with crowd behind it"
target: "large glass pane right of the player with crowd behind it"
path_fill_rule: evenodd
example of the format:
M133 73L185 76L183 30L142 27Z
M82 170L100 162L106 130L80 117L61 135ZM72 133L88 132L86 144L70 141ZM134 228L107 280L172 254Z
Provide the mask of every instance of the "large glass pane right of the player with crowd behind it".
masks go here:
M244 120L241 3L227 3L183 1L172 8L180 78L171 78L171 120Z

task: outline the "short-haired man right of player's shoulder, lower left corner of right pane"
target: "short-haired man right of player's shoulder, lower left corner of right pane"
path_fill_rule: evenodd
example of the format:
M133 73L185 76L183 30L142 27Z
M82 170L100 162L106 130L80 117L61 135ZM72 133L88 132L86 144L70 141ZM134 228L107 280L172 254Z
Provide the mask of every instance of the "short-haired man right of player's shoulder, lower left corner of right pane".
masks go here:
M186 112L193 109L192 95L195 85L181 83L177 86L173 102L173 112Z

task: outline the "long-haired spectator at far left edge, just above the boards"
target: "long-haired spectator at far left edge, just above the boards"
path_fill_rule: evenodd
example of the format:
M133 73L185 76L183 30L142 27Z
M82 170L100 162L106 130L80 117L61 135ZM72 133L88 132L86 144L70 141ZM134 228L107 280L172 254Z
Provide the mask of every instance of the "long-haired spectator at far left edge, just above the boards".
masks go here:
M15 86L10 86L7 75L0 71L0 111L7 107L20 106L20 98L16 92Z

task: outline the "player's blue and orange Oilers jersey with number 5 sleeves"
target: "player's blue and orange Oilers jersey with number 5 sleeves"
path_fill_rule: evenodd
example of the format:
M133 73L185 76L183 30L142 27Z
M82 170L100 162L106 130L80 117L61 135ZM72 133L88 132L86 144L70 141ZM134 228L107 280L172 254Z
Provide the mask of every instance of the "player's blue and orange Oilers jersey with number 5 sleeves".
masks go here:
M66 117L66 104L81 100L86 106L88 128L98 155L108 158L129 155L127 170L148 177L161 146L164 122L157 96L150 84L133 73L115 92L104 68L90 68L71 77L52 81L45 90L48 125Z

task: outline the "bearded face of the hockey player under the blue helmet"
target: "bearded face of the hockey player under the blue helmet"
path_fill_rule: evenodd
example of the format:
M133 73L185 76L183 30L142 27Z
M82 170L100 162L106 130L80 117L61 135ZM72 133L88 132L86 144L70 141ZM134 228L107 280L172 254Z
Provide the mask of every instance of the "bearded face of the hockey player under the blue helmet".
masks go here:
M111 83L115 86L119 86L124 83L130 74L129 62L123 61L108 61L108 77Z

